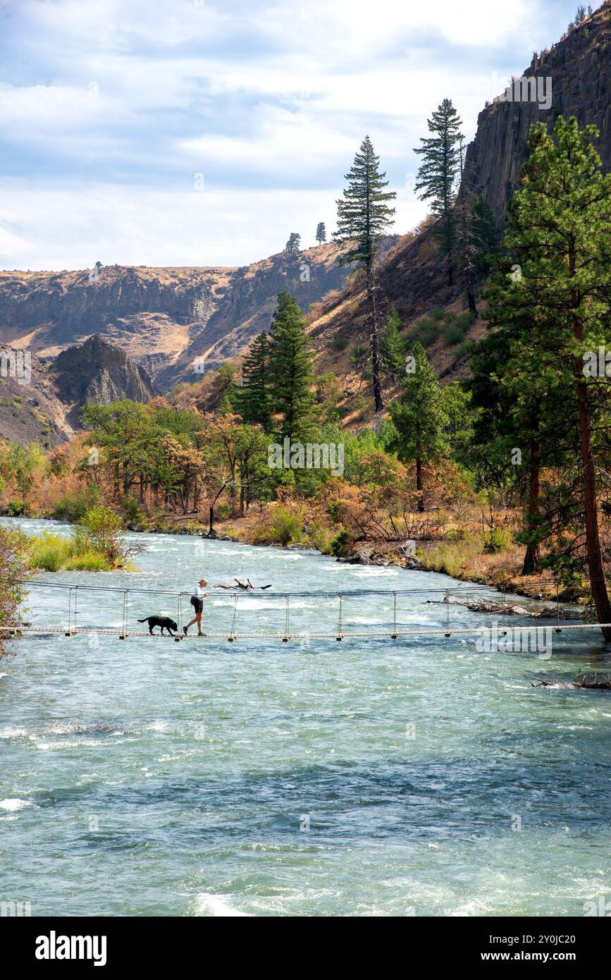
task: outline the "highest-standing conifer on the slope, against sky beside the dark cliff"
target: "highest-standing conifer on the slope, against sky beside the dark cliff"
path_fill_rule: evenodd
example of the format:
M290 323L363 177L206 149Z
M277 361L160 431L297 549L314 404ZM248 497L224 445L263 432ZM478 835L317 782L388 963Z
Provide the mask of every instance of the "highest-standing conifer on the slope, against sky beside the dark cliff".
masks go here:
M421 201L431 199L431 211L441 220L438 234L447 261L447 282L451 285L453 282L451 254L456 234L453 206L459 167L457 146L463 138L460 132L462 120L450 99L444 99L433 113L433 118L427 120L427 123L429 132L435 135L421 137L420 142L423 145L419 149L414 149L414 153L422 156L415 190L422 191Z

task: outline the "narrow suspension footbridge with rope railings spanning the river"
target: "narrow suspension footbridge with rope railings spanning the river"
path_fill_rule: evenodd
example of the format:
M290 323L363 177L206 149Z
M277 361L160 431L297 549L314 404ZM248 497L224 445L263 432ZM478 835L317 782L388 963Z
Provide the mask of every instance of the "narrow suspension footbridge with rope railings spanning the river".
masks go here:
M136 612L135 606L136 603L141 604L144 598L148 602L151 602L155 598L160 604L163 604L164 612L161 614L169 615L170 618L175 619L176 635L163 634L165 638L180 643L196 635L187 634L185 636L183 635L182 629L186 621L185 613L188 612L191 615L188 600L191 591L126 588L107 585L80 585L69 582L40 581L38 579L25 579L13 584L23 586L24 590L31 590L34 607L37 610L41 608L40 604L36 602L37 596L40 596L40 592L37 590L45 590L44 595L46 596L51 593L54 599L57 597L57 601L53 602L52 610L49 611L49 614L53 615L55 621L51 624L28 622L24 617L23 611L20 609L17 622L0 625L0 631L5 635L17 636L22 634L40 635L55 633L71 637L95 634L100 636L114 636L119 640L127 640L129 637L150 637L151 633L148 629L130 628L134 619L142 617L142 611ZM425 599L425 596L440 598ZM481 632L483 627L486 628L484 616L482 616L479 623L461 625L457 613L460 610L464 611L469 602L473 602L478 598L482 599L482 597L491 600L491 596L492 590L490 587L487 589L474 589L473 586L457 586L455 589L436 589L433 587L428 589L353 589L335 592L310 591L282 593L249 590L248 592L225 591L222 595L211 592L211 598L216 600L213 606L214 614L211 615L211 610L205 606L203 622L210 622L213 619L216 631L205 631L204 638L224 640L229 643L233 643L238 639L281 640L283 643L290 643L292 640L322 639L335 639L341 642L352 637L371 639L387 637L398 640L400 637L440 636L448 639L452 635L477 634ZM255 597L263 604L261 607L258 606L257 609L253 609L252 607L252 600ZM517 599L518 597L511 598ZM110 601L111 608L108 610L108 613L109 617L115 619L113 625L81 625L83 615L91 617L92 601L95 603L96 599L97 606L100 606L103 602L109 605ZM382 601L385 613L388 615L388 618L383 622L373 621L376 599ZM494 604L496 607L500 607L500 610L496 609L496 614L502 615L506 599L507 597L503 592L502 599L499 598L498 602ZM220 600L220 603L218 600ZM248 608L249 600L251 601L250 609ZM296 610L296 601L301 601L302 604L304 601L317 603L319 605L319 617L322 617L324 613L324 617L327 620L326 628L321 631L308 630L307 632L301 632L299 627L295 625L295 613L298 612ZM444 607L443 610L440 610L439 625L418 626L413 621L403 622L401 620L401 614L407 612L406 604L411 604L408 612L414 613L414 603L418 603L418 601L422 605L433 604ZM361 620L363 612L370 617L366 621L366 628L358 628L359 625L363 625L362 622L351 625L350 609L352 603L358 604L357 608ZM226 610L219 610L219 606L226 607ZM96 606L94 605L93 608L96 609ZM167 613L168 608L172 610L171 613ZM352 606L352 616L353 609L354 607ZM476 612L479 611L476 610ZM484 610L483 612L487 611ZM220 616L219 613L221 613ZM528 613L525 614L528 615ZM532 631L537 628L551 628L554 620L553 628L557 633L565 630L599 630L603 626L611 626L611 623L566 622L565 615L566 613L564 612L561 615L560 603L556 598L555 610L552 611L547 608L544 618L534 617L530 620L529 625L514 625L514 622L503 622L497 624L498 632L499 635L506 635L508 630L520 633ZM246 622L253 616L262 619L265 624L269 623L270 619L275 620L276 628L272 630L267 629L267 631L265 628L252 630L248 626L245 626L244 629L240 628L242 622ZM219 618L223 620L222 627L216 625ZM299 618L299 613L297 618ZM512 615L512 618L515 620L519 618L519 615ZM118 625L119 619L120 625ZM538 624L540 625L538 626ZM153 635L159 638L162 634L155 633Z

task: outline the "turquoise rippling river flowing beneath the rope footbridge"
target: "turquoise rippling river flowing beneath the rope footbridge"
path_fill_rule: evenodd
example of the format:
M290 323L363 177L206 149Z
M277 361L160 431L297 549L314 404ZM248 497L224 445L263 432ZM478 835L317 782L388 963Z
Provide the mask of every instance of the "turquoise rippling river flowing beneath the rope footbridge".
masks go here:
M146 545L138 573L41 577L464 587L306 552L130 537ZM118 596L83 595L79 626L120 628ZM426 603L440 598L400 597L400 623L443 626L444 607ZM176 618L172 604L134 594L130 628ZM292 629L333 632L337 606L293 600ZM35 624L67 621L63 590L32 589L28 607ZM205 629L228 634L232 614L214 594ZM388 597L346 601L347 630L391 620ZM280 598L240 597L237 633L283 623ZM583 915L611 897L611 695L533 688L524 673L604 669L608 648L597 632L554 634L542 662L479 653L476 639L26 637L0 661L0 901L33 915Z

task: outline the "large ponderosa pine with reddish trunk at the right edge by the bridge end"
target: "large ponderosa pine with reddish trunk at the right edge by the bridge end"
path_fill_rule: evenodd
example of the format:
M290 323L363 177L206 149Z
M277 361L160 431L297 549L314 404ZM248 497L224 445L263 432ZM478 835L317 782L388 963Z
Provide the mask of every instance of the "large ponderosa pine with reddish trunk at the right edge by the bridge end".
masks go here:
M586 563L599 622L611 622L598 528L600 454L609 431L611 382L588 377L584 356L608 341L611 319L611 174L603 176L592 141L595 126L580 131L562 118L554 138L545 123L531 129L531 156L509 214L504 247L519 275L489 290L494 323L514 325L528 356L523 383L555 390L580 463ZM603 630L611 639L611 629Z

